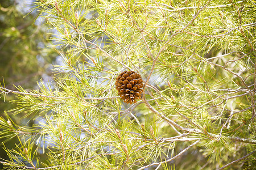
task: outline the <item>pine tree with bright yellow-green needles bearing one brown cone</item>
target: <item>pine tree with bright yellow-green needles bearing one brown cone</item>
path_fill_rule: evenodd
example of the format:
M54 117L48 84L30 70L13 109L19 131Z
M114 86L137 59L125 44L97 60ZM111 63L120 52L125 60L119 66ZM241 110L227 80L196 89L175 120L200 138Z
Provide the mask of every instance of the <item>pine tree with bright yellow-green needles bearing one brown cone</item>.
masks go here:
M53 69L55 84L40 82L29 92L1 84L2 97L16 94L7 113L36 120L28 128L1 117L1 138L19 139L1 163L255 169L255 7L232 0L36 1L32 10L56 31L62 62Z

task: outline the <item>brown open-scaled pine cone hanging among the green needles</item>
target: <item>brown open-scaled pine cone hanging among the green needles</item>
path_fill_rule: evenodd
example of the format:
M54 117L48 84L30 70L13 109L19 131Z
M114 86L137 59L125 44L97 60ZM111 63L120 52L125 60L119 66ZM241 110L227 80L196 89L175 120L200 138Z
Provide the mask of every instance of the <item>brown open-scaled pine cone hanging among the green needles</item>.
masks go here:
M141 99L143 80L141 75L134 71L124 71L119 74L115 81L115 88L117 88L118 95L125 101L125 103L136 103L135 99Z

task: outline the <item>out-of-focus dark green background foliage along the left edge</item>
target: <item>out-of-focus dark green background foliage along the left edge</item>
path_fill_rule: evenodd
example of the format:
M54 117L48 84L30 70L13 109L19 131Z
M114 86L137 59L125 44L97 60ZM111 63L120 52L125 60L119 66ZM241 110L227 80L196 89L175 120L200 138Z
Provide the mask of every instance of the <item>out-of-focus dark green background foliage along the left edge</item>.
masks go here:
M46 48L51 45L47 40L47 26L34 23L36 12L24 17L26 14L20 11L18 2L21 1L0 2L0 83L12 90L15 90L14 86L35 88L42 77L51 76L51 63L55 62L57 55L54 49ZM13 94L0 97L0 116L5 117L5 111L14 107L9 103L14 99ZM17 124L27 124L30 118L26 120L20 118L22 116L11 115L11 119ZM15 147L16 142L17 139L13 138L5 146ZM0 146L0 158L8 159L3 145Z

